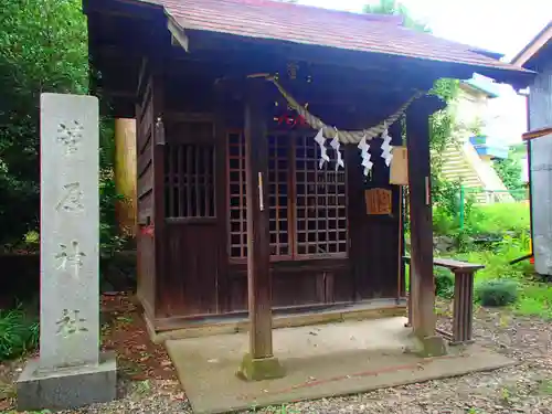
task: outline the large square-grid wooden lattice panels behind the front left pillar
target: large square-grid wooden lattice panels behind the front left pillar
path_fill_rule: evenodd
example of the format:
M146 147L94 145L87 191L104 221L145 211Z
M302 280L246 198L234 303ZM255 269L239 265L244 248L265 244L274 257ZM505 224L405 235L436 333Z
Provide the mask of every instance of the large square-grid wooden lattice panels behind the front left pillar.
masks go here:
M268 212L272 259L346 256L346 173L318 167L310 135L278 132L268 139ZM230 256L247 257L245 141L229 135ZM329 156L335 159L331 149Z

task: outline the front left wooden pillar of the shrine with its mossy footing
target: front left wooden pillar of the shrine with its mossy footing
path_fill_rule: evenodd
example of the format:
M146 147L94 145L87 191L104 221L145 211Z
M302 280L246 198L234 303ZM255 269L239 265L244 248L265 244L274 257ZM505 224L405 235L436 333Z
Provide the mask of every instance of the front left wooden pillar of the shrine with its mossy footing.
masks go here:
M283 376L273 354L272 284L268 229L267 105L264 79L248 79L245 102L245 170L247 194L247 293L250 353L240 374L246 380Z

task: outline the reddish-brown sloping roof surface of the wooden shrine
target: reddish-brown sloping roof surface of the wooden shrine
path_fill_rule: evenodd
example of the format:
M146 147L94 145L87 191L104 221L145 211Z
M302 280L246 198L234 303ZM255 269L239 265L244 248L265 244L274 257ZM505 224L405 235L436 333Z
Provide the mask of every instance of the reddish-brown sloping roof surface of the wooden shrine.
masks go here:
M399 15L361 14L273 0L149 0L184 30L280 40L521 72L498 54L407 29Z

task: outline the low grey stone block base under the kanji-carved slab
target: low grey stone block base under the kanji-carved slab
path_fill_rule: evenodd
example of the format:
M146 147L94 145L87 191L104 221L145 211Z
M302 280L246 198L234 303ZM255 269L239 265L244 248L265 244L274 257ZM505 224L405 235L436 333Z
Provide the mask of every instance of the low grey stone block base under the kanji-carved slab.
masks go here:
M39 372L31 360L17 381L18 411L67 410L115 400L117 362L114 352L100 353L97 367L73 367Z

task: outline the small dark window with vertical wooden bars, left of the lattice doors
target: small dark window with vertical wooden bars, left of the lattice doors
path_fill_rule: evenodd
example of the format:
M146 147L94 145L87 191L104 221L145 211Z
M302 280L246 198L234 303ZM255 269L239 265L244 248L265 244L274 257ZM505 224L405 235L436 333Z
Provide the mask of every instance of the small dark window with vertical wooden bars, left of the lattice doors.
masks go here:
M164 152L164 205L168 219L214 219L214 147L170 144Z

